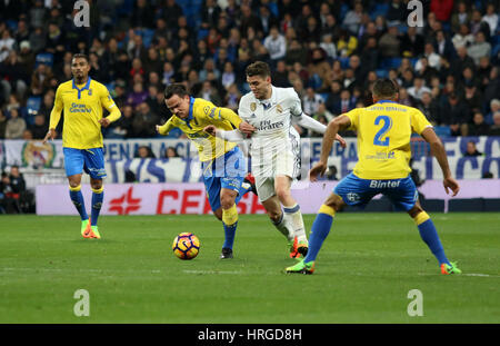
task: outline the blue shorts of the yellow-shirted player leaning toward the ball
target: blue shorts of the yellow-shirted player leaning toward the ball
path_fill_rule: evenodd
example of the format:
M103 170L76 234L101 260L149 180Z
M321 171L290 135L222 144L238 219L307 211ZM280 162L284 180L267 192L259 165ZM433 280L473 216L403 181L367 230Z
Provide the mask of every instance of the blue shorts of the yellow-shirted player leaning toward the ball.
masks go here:
M247 160L241 150L234 147L217 159L201 162L201 169L210 208L216 211L220 208L222 188L240 191L247 175Z

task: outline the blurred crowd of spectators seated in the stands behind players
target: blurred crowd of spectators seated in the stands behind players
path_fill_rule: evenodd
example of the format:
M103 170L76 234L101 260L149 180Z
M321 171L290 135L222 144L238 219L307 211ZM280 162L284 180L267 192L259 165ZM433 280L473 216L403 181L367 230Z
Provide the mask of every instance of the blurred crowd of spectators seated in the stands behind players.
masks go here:
M90 26L76 27L73 1L0 0L1 139L43 138L77 52L122 112L104 138L156 137L174 81L237 110L256 60L323 123L370 105L371 85L389 76L440 136L500 136L498 1L422 0L421 27L408 26L408 0L87 2Z

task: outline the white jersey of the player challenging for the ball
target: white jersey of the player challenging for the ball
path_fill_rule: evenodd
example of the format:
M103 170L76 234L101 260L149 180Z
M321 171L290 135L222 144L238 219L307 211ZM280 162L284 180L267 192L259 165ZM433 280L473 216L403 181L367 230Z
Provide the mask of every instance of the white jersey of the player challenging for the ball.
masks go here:
M284 174L294 178L300 164L300 136L291 118L300 118L302 107L293 88L272 87L268 100L258 100L253 92L249 92L241 98L238 115L257 128L251 136L250 148L253 175L281 174L281 169L273 169L272 166L284 160L287 162L281 165L288 167ZM289 169L290 160L293 174Z

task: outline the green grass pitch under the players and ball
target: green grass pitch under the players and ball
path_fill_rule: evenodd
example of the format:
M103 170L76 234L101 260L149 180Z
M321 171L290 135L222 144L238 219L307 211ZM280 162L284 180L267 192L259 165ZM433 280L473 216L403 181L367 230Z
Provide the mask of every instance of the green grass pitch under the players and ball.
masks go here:
M78 217L1 216L0 323L500 323L500 214L432 218L462 275L439 274L406 214L338 214L311 276L283 273L294 261L263 215L240 216L232 260L213 216L103 216L101 240ZM193 260L172 254L182 231L201 240Z

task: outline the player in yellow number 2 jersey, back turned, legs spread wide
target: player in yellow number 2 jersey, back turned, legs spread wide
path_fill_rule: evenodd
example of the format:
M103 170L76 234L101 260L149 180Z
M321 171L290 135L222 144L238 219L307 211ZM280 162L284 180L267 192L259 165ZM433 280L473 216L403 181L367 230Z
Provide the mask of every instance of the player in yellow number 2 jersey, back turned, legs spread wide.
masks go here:
M410 137L417 132L430 144L441 167L447 194L456 196L460 189L451 177L443 145L426 116L418 109L399 105L398 89L390 79L373 85L374 105L353 109L330 121L323 137L321 158L310 170L311 181L323 176L333 139L339 130L358 132L358 164L327 198L314 219L306 258L286 269L287 273L312 274L314 260L323 240L330 233L336 211L349 206L366 206L376 195L387 196L397 209L407 211L414 220L422 240L438 259L442 274L460 274L456 264L444 255L436 227L418 201L417 188L409 177L411 171Z

